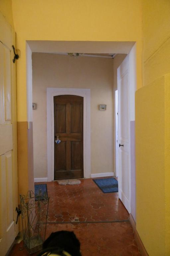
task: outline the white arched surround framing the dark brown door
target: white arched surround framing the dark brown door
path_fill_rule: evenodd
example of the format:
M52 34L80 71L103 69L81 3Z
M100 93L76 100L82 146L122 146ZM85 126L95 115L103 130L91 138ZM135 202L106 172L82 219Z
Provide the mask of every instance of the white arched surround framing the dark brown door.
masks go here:
M47 178L54 180L54 101L58 95L76 95L84 98L83 111L83 159L84 178L91 178L91 124L90 89L50 88L46 90L47 104Z

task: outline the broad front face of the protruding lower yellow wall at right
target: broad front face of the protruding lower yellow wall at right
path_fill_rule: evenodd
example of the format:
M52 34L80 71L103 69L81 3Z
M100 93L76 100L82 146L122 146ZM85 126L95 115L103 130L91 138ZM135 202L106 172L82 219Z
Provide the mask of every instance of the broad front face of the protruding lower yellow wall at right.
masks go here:
M136 229L149 256L165 255L164 77L136 92Z

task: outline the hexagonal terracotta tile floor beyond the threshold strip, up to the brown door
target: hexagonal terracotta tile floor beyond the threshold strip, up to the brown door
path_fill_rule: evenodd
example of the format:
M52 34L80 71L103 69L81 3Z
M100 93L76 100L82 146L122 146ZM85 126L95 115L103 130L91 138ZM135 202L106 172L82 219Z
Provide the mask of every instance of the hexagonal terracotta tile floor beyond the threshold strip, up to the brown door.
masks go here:
M129 214L118 193L103 193L92 179L80 185L47 183L49 200L48 222L127 220Z

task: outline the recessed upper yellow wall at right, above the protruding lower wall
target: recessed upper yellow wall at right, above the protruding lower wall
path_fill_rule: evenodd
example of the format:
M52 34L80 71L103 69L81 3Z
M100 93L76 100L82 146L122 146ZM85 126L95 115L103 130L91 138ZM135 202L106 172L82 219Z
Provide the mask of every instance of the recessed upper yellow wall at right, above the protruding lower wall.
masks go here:
M170 70L170 1L143 0L143 85Z

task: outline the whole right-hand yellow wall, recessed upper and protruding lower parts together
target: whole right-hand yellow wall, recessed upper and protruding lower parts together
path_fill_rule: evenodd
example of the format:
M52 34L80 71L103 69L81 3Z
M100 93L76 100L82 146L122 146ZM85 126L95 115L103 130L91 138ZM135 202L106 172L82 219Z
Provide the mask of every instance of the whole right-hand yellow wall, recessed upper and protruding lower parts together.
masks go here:
M149 256L170 255L170 1L143 0L143 88L136 92L136 228Z

